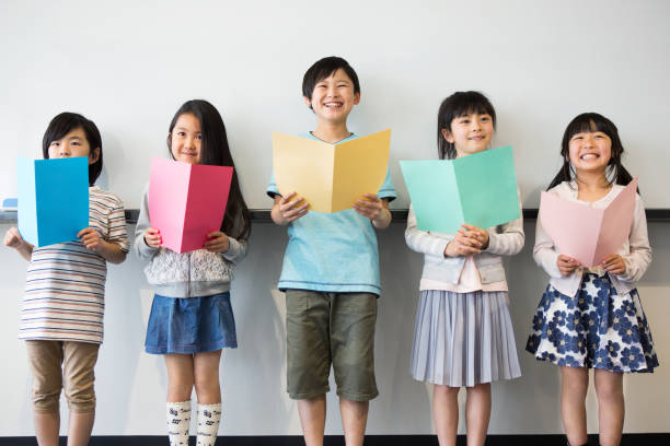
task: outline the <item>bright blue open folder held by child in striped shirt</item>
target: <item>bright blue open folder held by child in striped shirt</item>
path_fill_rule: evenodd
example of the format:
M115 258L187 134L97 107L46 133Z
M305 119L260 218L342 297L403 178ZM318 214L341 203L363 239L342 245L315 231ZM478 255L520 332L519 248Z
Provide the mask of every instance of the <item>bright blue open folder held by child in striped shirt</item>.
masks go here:
M89 227L89 159L16 161L19 233L33 246L77 240Z

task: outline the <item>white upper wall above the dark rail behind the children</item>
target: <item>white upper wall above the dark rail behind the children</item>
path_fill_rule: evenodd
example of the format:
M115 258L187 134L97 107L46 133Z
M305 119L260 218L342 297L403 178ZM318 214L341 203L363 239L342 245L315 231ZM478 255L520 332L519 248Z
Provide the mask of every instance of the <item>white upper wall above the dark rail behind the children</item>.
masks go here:
M41 156L67 109L99 125L101 183L137 208L172 115L204 97L223 115L246 200L267 208L270 132L313 128L302 75L340 55L362 83L350 128L393 129L395 207L407 207L397 160L435 159L440 101L474 89L498 111L496 143L515 146L527 207L557 171L567 122L596 110L620 127L646 206L670 208L669 19L665 0L3 0L0 198L15 196L14 157Z

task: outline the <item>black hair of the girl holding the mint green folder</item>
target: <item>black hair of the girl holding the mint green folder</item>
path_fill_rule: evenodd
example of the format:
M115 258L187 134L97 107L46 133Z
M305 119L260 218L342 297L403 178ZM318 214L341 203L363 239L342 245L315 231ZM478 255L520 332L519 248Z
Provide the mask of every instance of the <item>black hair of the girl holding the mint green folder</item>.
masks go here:
M455 92L440 104L438 110L438 155L440 160L453 160L457 157L457 150L452 142L444 139L442 129L451 132L451 121L463 115L476 113L480 115L488 114L496 127L496 110L490 102L480 92Z

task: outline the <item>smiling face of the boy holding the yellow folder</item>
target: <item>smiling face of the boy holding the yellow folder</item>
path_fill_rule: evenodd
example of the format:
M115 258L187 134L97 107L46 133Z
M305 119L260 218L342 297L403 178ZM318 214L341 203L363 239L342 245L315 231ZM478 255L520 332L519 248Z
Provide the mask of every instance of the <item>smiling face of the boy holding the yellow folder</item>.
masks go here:
M304 98L320 120L328 122L346 121L351 108L360 102L360 93L354 93L354 82L343 69L320 80L314 85L312 97Z

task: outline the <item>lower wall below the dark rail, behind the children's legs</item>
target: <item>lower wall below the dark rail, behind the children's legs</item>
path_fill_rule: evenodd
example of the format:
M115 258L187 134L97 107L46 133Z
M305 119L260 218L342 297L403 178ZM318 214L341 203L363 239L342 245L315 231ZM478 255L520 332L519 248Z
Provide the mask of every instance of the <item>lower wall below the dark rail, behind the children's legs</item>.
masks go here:
M0 225L4 233L9 226ZM134 227L129 227L134 230ZM421 257L404 242L405 225L379 233L382 286L377 321L376 365L380 396L370 409L370 434L432 432L429 387L408 373ZM670 225L651 223L654 261L639 292L661 366L654 374L624 379L626 432L670 432ZM534 223L525 224L529 243L507 265L511 316L523 376L493 386L490 433L559 433L559 379L556 366L523 351L532 316L547 279L531 259ZM298 435L296 404L286 395L285 302L276 291L286 232L256 224L250 253L233 282L232 305L240 348L227 350L221 363L224 421L221 435ZM32 435L30 373L23 342L16 339L25 262L0 249L0 339L3 404L0 435ZM96 367L97 414L94 435L163 435L166 391L162 356L143 352L151 289L139 261L130 257L111 266L107 277L105 342ZM334 389L334 384L332 384ZM589 430L597 432L597 406L588 398ZM195 401L195 396L194 396ZM66 413L65 401L61 410ZM342 434L334 391L330 394L326 432ZM462 424L462 423L461 423ZM66 432L67 416L62 420ZM462 426L461 426L462 427Z

